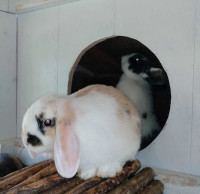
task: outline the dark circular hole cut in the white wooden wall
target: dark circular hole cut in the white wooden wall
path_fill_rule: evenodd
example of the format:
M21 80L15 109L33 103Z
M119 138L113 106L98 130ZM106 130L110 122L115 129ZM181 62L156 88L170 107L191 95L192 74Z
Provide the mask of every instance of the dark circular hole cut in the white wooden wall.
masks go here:
M123 74L121 70L122 56L132 53L140 54L149 60L151 67L162 70L161 76L154 80L147 80L150 86L156 121L159 130L152 132L151 136L142 139L140 150L146 148L163 129L170 111L171 91L167 73L155 54L138 40L117 36L94 43L80 54L71 69L68 93L74 93L88 85L105 84L116 87ZM159 75L159 73L158 73ZM133 91L134 87L130 89ZM148 112L148 111L147 111ZM141 113L141 118L146 119L148 114Z

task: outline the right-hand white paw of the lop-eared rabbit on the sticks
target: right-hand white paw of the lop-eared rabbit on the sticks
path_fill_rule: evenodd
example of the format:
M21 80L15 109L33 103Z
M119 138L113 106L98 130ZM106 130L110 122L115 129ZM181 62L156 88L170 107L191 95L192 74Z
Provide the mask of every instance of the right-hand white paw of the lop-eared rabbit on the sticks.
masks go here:
M113 177L116 173L122 170L122 164L119 162L114 162L111 164L106 164L98 168L97 176L106 178Z

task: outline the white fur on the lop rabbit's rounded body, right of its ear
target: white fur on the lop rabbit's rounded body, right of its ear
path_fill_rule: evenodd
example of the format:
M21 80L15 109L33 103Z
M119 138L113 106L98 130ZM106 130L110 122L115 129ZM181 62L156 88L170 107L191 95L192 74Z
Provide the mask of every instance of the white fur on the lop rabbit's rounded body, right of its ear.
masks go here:
M75 100L73 106L76 115L80 115L75 128L81 144L81 177L88 170L101 177L114 176L127 160L135 159L139 137L134 129L138 118L131 123L119 120L119 104L96 92ZM90 166L94 167L92 172Z

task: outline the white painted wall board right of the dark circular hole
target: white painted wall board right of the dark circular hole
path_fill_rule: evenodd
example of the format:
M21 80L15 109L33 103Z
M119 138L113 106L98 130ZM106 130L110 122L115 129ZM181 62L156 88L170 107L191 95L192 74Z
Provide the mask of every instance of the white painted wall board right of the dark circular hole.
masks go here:
M171 84L166 126L138 158L143 165L189 173L195 1L117 0L116 6L116 33L154 52Z

